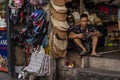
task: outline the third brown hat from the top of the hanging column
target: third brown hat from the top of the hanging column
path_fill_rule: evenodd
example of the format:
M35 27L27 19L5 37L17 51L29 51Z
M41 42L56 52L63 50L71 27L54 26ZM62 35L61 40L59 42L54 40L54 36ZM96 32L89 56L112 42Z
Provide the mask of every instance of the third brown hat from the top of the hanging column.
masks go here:
M54 34L56 35L57 39L65 40L67 38L66 31L59 31L56 27L53 26Z

